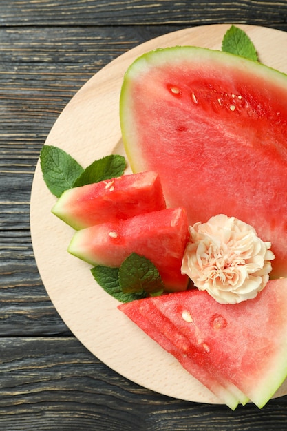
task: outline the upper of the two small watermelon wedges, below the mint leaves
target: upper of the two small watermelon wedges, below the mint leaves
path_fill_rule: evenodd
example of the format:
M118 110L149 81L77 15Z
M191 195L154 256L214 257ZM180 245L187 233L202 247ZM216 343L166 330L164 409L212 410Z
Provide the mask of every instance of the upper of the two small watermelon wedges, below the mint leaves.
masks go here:
M68 189L52 213L74 229L83 229L165 208L160 178L149 171Z

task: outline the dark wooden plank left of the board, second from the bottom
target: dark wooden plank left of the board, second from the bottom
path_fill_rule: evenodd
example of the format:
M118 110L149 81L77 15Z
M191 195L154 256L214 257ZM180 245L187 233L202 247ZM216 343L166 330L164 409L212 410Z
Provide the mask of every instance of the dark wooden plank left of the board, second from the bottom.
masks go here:
M0 273L0 337L70 334L41 282L28 230L0 231Z

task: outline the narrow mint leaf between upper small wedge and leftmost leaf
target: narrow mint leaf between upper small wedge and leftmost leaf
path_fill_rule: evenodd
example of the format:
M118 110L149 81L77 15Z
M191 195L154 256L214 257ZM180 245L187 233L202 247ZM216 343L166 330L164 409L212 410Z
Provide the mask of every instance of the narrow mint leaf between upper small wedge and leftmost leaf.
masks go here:
M75 180L73 187L93 184L123 175L126 167L125 158L119 154L111 154L100 160L95 160L86 167L83 173Z

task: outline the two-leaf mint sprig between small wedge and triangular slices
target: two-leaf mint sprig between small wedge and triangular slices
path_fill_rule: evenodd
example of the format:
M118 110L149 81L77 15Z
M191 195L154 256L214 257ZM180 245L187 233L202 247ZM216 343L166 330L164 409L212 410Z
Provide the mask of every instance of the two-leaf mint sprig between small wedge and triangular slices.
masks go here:
M136 253L131 253L120 268L98 265L94 266L91 272L104 291L120 302L157 296L164 291L164 284L156 266Z

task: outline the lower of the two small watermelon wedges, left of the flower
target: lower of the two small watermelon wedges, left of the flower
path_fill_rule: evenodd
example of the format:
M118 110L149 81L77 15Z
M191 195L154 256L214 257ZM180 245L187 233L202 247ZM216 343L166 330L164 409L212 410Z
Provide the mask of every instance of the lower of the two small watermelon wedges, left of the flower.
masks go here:
M119 267L137 253L156 265L167 291L182 291L189 278L180 269L189 230L183 208L162 209L76 231L68 251L94 266Z

